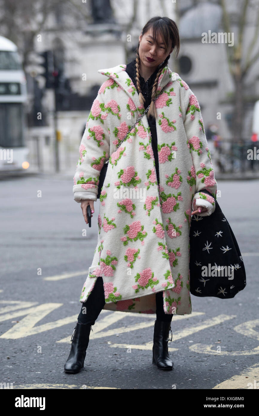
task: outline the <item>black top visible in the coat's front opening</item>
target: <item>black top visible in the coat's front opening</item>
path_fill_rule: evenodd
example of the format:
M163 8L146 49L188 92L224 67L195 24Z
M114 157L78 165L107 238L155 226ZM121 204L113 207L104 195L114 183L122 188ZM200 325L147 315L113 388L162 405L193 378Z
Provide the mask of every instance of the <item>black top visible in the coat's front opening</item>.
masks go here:
M131 61L128 65L126 65L126 72L127 74L131 77L133 84L135 85L136 89L137 89L137 82L136 82L136 59L133 59L133 61ZM151 102L151 94L152 94L152 87L153 84L155 82L155 78L157 76L159 68L157 68L155 70L155 72L153 72L153 74L148 78L148 80L145 82L145 79L143 77L139 77L139 82L141 85L141 91L143 93L143 96L145 97L145 102L144 102L144 107L145 109L149 106L150 102ZM137 89L138 90L138 89ZM152 149L153 149L153 153L154 153L154 158L155 158L155 171L156 171L156 176L158 179L158 183L159 183L159 165L158 165L158 138L157 138L157 133L156 133L156 126L155 126L155 119L153 117L148 117L148 124L150 127L150 132L151 132L151 136L152 136Z

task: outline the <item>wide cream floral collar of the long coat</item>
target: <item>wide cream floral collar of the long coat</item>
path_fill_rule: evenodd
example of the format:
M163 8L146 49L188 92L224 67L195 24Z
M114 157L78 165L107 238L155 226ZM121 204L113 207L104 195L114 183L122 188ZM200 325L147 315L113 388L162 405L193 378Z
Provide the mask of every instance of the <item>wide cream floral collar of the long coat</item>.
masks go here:
M116 81L116 83L128 94L128 96L132 99L134 104L136 105L136 108L143 108L141 106L139 99L138 99L138 93L132 94L132 87L135 88L132 80L131 84L128 84L127 79L129 78L129 75L125 71L126 64L119 64L115 67L111 68L105 68L105 69L99 69L97 72L100 74L105 75L106 77L112 78ZM166 66L163 68L162 74L160 75L158 79L158 91L163 89L165 85L172 84L174 81L177 81L178 79L181 79L180 76L176 72L172 72L171 69Z

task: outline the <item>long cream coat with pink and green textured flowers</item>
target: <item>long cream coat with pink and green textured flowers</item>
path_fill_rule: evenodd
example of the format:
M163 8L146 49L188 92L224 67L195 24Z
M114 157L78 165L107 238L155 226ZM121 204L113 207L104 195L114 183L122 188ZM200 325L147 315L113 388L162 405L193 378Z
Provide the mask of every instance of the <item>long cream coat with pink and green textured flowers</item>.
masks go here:
M96 201L99 174L109 159L101 191L98 242L80 302L102 276L106 310L155 313L163 291L167 314L190 314L192 203L215 210L217 182L197 98L180 76L163 69L155 101L160 184L150 127L126 65L99 69L106 77L93 102L79 147L74 199ZM214 198L200 192L207 189Z

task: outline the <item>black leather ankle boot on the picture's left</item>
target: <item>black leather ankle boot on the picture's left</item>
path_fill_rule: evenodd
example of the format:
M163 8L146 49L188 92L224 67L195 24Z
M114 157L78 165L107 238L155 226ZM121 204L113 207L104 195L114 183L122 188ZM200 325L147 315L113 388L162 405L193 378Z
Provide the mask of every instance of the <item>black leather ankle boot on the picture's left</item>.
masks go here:
M90 331L91 325L79 324L77 322L71 337L71 350L67 362L64 365L64 370L67 373L78 373L84 366Z

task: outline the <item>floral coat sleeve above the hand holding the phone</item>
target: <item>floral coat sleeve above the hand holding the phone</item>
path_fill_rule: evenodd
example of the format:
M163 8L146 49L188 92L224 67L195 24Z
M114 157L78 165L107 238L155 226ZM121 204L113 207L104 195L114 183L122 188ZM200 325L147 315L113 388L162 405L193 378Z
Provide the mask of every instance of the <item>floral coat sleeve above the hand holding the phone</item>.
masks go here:
M74 200L79 203L82 199L97 200L100 171L109 159L108 111L104 103L104 94L100 90L91 106L79 146L79 160L76 163L73 186Z

